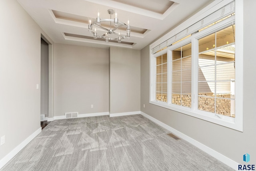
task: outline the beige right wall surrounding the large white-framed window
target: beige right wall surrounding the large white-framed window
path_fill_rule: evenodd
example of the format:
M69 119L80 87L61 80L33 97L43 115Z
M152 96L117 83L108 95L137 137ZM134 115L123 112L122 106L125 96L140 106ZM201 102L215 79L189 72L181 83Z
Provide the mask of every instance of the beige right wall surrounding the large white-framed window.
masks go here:
M256 156L256 113L254 109L256 103L254 47L256 44L252 40L256 27L256 24L252 22L256 20L255 6L254 0L244 1L244 88L240 90L244 94L243 132L149 104L149 46L141 50L141 111L240 164L245 164L242 160L245 153ZM143 104L146 104L146 108L143 108ZM250 164L256 164L256 157L251 157Z

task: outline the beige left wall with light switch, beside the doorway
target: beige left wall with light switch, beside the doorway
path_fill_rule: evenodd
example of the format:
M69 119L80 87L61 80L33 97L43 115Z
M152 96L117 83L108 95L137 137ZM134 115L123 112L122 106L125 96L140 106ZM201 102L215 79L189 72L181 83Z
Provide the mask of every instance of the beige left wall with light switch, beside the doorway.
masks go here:
M40 128L41 29L16 0L0 1L0 160Z

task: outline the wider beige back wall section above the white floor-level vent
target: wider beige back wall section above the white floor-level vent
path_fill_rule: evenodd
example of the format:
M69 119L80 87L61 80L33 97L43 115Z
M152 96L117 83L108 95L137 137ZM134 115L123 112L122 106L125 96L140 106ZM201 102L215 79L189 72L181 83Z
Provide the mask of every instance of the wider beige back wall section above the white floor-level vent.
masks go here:
M108 60L108 49L54 44L54 116L109 111Z

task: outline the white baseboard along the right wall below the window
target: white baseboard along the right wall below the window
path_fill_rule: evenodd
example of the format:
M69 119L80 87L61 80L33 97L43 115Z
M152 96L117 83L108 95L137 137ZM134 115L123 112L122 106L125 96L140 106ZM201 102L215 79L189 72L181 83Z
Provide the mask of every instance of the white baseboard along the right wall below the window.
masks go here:
M155 119L154 117L151 117L150 115L147 115L144 112L140 112L141 115L143 115L144 117L150 119L151 121L157 123L158 125L164 127L165 129L171 131L172 133L178 135L178 137L188 141L189 143L191 143L192 145L198 147L199 149L201 149L202 151L208 153L209 155L211 155L212 157L218 159L219 161L221 161L222 163L228 165L229 167L232 167L233 169L237 170L238 169L238 165L239 163L233 161L232 159L218 153L217 151L207 147L206 145L196 141L195 139L192 139L190 137L188 137L187 135L185 135L184 133L181 133L180 131L177 131L176 129L166 125L165 123L162 123L161 121L158 121L157 119Z

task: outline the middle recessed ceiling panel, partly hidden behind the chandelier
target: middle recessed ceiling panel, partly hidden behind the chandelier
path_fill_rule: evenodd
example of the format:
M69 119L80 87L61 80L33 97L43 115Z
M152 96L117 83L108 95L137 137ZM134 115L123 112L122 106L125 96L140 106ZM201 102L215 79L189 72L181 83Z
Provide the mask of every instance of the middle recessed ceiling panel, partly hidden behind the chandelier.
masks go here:
M88 17L86 17L86 16L79 16L79 15L69 14L66 12L60 12L60 11L56 11L56 10L52 10L52 12L56 18L88 24ZM91 18L91 19L92 19L92 22L94 22L96 20L95 18ZM110 27L110 22L102 22L102 26ZM120 27L119 29L126 30L126 27ZM131 29L131 32L139 33L139 34L144 34L147 31L147 29L133 27L133 26L130 26L130 29Z

